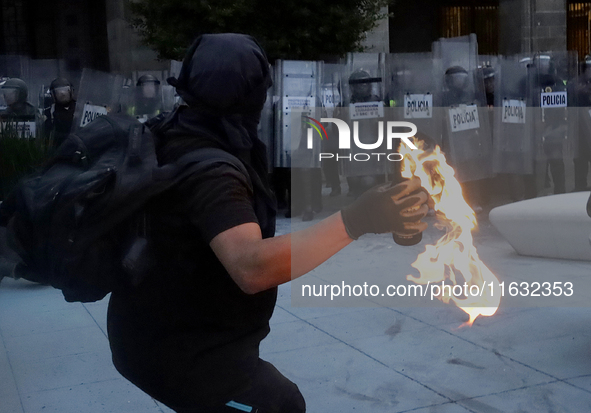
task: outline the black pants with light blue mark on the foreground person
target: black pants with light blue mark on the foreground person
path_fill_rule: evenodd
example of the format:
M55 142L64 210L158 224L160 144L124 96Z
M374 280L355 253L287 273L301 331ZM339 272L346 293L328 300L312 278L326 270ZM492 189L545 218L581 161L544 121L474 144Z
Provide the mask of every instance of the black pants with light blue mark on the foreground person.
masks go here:
M298 386L271 363L259 359L251 387L233 397L229 403L191 409L169 407L177 413L304 413L306 402Z

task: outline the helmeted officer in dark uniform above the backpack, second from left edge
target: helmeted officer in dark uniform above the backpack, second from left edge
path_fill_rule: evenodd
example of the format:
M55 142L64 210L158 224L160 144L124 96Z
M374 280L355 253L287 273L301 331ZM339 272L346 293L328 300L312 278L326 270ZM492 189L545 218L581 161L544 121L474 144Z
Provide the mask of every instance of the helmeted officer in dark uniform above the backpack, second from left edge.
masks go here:
M45 134L53 138L55 147L61 145L72 129L76 101L74 89L68 79L57 78L51 82L49 92L53 103L45 110Z

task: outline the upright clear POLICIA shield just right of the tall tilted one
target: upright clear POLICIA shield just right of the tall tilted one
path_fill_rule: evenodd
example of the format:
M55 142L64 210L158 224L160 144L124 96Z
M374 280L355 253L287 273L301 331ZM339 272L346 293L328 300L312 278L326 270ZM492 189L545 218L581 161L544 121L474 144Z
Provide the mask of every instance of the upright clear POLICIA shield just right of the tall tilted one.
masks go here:
M533 173L533 112L527 107L527 68L519 57L498 61L495 70L493 169L495 173Z

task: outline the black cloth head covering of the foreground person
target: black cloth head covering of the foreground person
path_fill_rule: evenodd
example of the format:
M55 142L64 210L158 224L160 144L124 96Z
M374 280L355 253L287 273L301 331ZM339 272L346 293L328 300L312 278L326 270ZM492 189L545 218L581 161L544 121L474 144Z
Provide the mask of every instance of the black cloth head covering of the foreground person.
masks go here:
M152 126L160 163L197 148L224 149L244 163L255 189L274 208L266 146L257 136L272 79L256 40L234 33L202 35L187 51L178 79L168 82L188 106Z

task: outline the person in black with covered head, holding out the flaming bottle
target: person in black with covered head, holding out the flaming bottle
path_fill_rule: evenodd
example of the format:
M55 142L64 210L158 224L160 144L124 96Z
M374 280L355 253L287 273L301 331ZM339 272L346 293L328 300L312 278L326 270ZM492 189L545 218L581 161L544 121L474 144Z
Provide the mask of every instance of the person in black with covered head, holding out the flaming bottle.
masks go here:
M273 236L275 202L256 128L272 83L269 67L250 36L203 35L178 80L169 79L187 106L149 123L162 165L214 147L248 171L213 164L155 200L148 212L151 270L134 291L111 295L115 367L177 412L304 412L298 387L259 358L276 287L365 233L426 227L420 219L427 196L413 180L374 188L342 213ZM418 210L403 212L413 206Z

